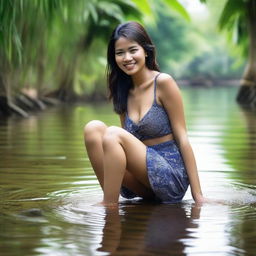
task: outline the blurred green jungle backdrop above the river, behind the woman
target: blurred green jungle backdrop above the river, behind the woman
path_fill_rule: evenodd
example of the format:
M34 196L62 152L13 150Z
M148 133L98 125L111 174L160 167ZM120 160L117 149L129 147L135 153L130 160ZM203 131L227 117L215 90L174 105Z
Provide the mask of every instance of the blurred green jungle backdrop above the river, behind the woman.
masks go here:
M147 28L161 71L180 85L237 85L246 63L256 61L250 58L253 35L247 26L255 3L0 0L0 113L4 103L7 108L19 105L20 94L104 100L107 42L113 28L128 20ZM254 87L255 72L247 77Z

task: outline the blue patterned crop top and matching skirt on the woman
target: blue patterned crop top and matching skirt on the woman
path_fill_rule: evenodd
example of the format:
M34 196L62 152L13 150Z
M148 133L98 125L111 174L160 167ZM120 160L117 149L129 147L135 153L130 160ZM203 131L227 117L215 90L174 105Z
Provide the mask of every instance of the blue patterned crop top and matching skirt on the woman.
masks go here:
M157 77L154 80L154 101L138 122L133 122L128 113L125 116L124 128L143 141L172 133L168 114L156 101ZM146 165L148 178L155 197L163 203L177 203L184 197L189 186L189 179L180 150L174 140L147 146ZM121 195L134 198L137 195L122 187Z

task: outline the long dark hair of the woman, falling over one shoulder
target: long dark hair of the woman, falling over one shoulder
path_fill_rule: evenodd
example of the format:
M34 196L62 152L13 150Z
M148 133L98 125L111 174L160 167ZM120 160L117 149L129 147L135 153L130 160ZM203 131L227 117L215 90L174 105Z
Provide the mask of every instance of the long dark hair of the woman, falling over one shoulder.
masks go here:
M148 69L159 71L159 67L156 62L155 46L142 25L130 21L120 24L114 29L108 44L107 82L109 99L113 99L114 110L118 114L123 114L127 111L127 97L133 84L131 77L116 64L115 43L120 37L137 42L145 50Z

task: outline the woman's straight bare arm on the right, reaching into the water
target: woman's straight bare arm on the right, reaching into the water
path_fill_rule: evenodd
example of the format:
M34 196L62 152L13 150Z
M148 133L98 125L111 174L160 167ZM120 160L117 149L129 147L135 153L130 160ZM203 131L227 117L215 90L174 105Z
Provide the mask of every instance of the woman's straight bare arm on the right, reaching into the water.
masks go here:
M158 99L166 109L171 121L174 139L179 146L187 169L192 196L195 202L202 203L204 197L201 191L194 153L187 136L180 90L176 82L167 74L161 74L157 81Z

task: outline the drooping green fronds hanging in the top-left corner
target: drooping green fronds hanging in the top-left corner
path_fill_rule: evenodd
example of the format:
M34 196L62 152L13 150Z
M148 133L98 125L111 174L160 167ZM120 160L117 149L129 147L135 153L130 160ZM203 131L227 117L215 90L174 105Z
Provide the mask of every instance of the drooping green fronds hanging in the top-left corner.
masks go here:
M35 43L38 32L51 26L55 11L64 0L7 0L0 2L0 52L2 59L21 63L24 47Z

